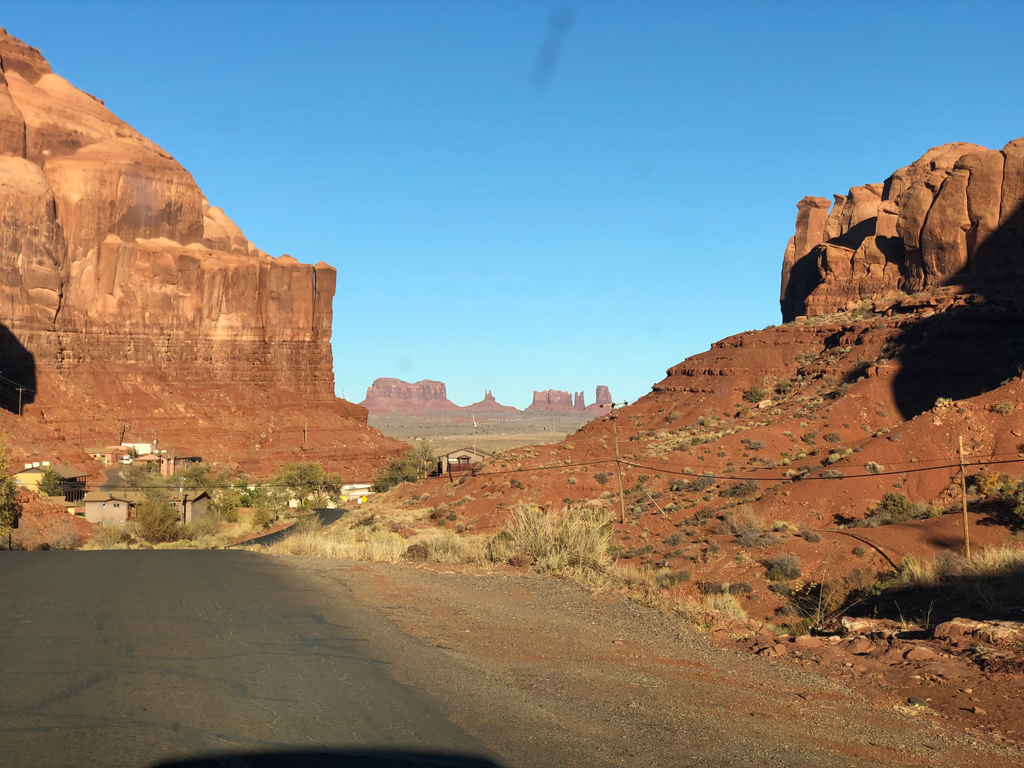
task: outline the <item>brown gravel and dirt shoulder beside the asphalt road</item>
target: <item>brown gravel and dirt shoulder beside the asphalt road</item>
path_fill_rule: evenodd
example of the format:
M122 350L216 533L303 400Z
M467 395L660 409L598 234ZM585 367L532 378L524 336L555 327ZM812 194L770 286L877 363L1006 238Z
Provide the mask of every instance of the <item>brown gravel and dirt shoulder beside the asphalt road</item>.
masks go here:
M392 674L430 692L511 765L992 768L1024 760L1015 745L959 733L905 699L869 699L790 664L717 647L678 620L570 582L283 559L325 597L340 590L375 614L359 631Z

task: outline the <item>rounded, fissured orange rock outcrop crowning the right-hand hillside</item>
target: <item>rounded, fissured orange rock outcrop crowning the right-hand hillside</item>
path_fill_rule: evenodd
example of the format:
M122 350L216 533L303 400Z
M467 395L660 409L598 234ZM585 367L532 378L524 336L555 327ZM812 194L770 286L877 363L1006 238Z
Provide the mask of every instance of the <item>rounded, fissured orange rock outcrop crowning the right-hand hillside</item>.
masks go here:
M1024 139L949 143L883 184L804 198L782 262L782 318L899 291L1024 274Z

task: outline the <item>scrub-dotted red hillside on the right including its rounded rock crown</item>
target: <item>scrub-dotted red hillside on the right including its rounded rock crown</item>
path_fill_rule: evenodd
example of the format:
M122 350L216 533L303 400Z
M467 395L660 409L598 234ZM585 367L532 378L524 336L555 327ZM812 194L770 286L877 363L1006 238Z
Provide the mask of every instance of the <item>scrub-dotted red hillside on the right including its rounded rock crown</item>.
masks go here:
M620 562L685 570L683 591L750 585L744 606L772 618L783 602L766 579L774 555L823 580L963 551L961 438L976 486L972 545L1010 538L1019 523L984 492L999 483L981 479L1024 466L1018 143L948 144L837 196L830 211L801 202L783 266L787 322L714 344L618 412ZM497 529L519 501L592 501L618 518L612 440L606 416L460 482L393 493L476 530ZM857 525L887 493L922 519Z

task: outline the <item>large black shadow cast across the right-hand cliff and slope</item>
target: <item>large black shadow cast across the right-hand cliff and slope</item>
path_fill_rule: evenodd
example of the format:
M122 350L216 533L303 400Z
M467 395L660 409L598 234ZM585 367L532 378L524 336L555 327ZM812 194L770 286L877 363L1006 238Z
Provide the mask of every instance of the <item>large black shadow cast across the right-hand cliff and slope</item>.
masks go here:
M896 339L893 394L905 419L940 397L975 397L1024 372L1024 207L944 284L981 298L915 321Z

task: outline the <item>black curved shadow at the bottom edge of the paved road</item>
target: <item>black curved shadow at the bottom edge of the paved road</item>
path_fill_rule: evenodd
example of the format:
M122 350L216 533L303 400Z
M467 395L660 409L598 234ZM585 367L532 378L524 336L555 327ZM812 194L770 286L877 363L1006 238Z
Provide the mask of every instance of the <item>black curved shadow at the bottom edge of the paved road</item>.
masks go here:
M153 768L285 768L325 766L330 768L501 768L486 758L445 755L435 752L393 750L294 750L288 752L218 753L205 758L171 760Z

